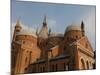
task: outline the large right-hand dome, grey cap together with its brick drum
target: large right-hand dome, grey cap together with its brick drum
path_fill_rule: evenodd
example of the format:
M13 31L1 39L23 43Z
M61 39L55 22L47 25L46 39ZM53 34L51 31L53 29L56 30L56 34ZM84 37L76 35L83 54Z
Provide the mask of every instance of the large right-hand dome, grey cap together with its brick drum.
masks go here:
M82 37L82 28L81 25L70 25L66 28L64 38L69 41L73 42L78 40Z

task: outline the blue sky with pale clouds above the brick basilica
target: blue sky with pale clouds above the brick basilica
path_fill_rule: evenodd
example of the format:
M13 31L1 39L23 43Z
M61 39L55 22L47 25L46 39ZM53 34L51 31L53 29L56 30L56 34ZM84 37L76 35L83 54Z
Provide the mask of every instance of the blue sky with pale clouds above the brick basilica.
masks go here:
M44 15L47 17L48 27L51 32L64 34L69 25L85 24L85 34L88 37L93 49L96 44L96 7L91 5L71 5L54 3L23 2L12 0L11 3L11 27L12 33L17 20L23 27L36 31L41 28Z

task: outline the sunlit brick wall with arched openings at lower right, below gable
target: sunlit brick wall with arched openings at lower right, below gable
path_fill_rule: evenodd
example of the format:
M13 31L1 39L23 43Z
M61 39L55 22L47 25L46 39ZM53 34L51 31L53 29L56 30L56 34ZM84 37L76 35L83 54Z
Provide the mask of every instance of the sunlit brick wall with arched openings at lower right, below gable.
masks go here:
M79 56L79 69L80 70L93 69L93 64L95 63L95 60L92 56L85 54L81 52L80 50L78 51L78 56Z

